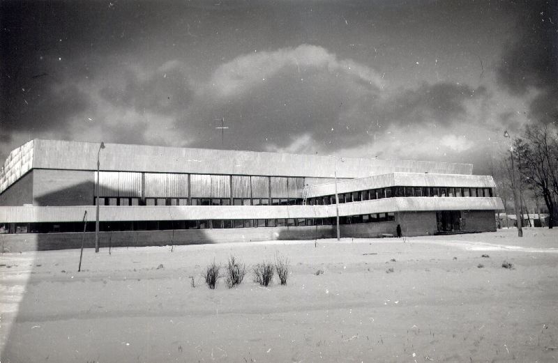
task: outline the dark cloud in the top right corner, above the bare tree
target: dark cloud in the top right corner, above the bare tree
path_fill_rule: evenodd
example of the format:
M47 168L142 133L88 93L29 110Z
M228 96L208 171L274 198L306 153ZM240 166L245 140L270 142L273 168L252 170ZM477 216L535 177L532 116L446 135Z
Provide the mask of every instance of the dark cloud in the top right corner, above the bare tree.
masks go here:
M527 1L518 7L517 25L497 70L499 83L513 95L536 88L531 118L548 123L558 116L558 1Z

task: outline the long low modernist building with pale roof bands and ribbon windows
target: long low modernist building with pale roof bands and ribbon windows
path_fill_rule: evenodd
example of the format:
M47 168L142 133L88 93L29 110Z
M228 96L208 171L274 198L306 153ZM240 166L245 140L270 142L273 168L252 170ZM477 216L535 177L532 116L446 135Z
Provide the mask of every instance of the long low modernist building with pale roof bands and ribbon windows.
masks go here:
M1 170L0 240L91 247L97 196L101 247L332 238L337 215L342 237L495 231L494 187L471 164L36 139Z

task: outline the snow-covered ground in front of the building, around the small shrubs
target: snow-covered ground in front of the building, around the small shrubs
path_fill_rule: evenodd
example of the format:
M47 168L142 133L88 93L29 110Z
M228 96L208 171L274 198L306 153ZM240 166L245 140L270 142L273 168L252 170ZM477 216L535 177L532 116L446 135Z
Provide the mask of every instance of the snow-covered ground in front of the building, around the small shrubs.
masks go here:
M558 229L524 233L3 254L1 362L555 362ZM232 254L287 286L209 290Z

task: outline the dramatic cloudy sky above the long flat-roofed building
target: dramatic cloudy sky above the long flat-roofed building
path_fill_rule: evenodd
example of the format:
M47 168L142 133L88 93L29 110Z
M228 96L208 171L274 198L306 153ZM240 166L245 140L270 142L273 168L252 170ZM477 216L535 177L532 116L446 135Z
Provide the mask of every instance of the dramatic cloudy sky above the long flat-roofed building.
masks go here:
M557 24L557 0L1 1L0 160L43 138L490 174L504 130L558 120Z

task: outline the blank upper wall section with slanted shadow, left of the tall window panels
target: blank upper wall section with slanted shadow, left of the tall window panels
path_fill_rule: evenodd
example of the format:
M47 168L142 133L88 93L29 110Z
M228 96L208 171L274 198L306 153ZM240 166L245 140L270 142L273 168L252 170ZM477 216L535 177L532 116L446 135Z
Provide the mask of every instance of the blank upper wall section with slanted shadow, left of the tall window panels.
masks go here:
M33 169L33 206L91 206L94 188L93 171Z

